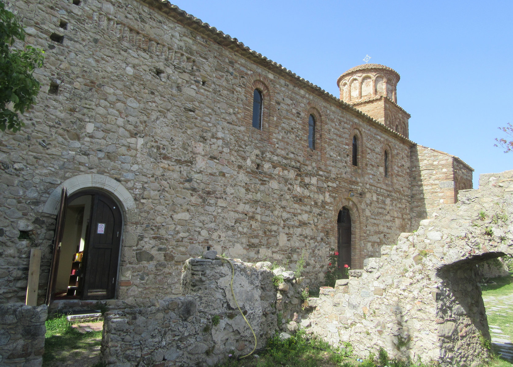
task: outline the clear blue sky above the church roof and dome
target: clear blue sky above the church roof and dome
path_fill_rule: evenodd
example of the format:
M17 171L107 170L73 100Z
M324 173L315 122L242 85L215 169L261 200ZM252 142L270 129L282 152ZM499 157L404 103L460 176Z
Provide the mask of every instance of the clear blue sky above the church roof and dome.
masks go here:
M368 54L401 75L411 140L459 156L475 188L480 173L513 169L513 153L494 147L513 124L512 1L173 4L336 96Z

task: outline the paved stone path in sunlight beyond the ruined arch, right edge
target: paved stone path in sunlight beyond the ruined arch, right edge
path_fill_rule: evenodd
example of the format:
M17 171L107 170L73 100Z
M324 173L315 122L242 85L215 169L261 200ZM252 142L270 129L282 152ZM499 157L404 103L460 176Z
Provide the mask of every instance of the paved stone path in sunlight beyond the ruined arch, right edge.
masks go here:
M484 296L483 301L488 319L491 315L507 316L508 313L513 313L513 294L507 296ZM498 353L502 354L502 358L511 363L513 363L513 335L508 335L503 329L512 326L509 323L500 325L488 324L491 344L494 345L494 349Z

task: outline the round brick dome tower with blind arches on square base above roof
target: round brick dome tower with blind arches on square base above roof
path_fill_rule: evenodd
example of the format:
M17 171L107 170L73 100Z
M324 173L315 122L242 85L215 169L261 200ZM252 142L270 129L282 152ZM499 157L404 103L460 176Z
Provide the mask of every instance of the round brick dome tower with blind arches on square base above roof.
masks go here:
M408 137L408 112L397 104L397 71L379 64L349 69L337 79L340 99Z

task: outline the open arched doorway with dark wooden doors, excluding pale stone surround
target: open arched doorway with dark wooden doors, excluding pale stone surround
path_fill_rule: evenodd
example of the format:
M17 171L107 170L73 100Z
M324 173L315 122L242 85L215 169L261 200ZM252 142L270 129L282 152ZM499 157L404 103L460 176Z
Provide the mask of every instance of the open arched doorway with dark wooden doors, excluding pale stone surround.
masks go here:
M120 205L99 190L75 192L67 199L61 231L50 298L114 298L123 232Z

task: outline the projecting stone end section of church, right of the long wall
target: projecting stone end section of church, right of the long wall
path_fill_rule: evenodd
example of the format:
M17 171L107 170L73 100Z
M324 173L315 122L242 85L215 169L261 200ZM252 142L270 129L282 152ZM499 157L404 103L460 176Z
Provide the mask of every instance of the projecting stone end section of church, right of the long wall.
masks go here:
M417 145L411 149L412 225L437 216L445 204L472 188L473 169L458 157Z

